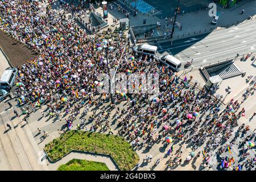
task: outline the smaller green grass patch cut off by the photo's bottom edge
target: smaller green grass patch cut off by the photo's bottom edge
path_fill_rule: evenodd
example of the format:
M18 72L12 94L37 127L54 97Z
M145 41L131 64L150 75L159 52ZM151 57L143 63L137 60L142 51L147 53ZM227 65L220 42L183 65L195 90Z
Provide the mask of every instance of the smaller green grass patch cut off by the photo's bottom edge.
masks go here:
M58 171L109 171L109 168L105 163L72 159L67 164L62 164Z

